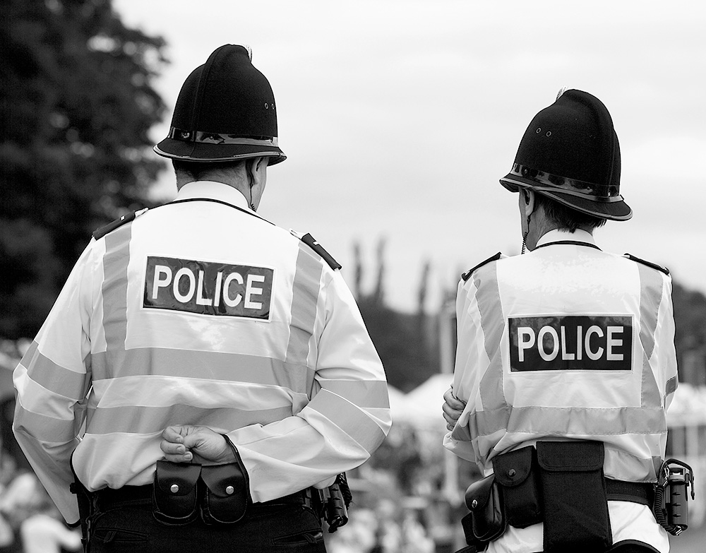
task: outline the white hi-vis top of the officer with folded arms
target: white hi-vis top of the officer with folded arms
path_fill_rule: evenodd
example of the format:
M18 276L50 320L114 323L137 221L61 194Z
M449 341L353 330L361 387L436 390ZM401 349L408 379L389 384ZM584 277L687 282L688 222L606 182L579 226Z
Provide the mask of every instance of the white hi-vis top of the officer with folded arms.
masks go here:
M493 457L537 440L599 440L606 477L654 482L677 386L669 275L601 251L587 232L555 230L529 254L496 256L464 277L453 391L467 404L445 447L490 473ZM667 550L647 507L618 503L611 523L616 509L642 515L629 528L612 523L614 541ZM542 549L541 531L539 549L518 533L531 531L510 527L493 551Z

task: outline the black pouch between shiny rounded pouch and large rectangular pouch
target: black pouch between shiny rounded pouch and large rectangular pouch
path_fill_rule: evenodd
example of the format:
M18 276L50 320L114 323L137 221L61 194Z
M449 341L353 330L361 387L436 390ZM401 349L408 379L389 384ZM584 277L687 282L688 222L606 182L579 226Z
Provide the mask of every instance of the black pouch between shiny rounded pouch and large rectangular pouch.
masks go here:
M542 522L537 452L532 446L504 453L493 459L495 479L503 487L508 524L527 528Z

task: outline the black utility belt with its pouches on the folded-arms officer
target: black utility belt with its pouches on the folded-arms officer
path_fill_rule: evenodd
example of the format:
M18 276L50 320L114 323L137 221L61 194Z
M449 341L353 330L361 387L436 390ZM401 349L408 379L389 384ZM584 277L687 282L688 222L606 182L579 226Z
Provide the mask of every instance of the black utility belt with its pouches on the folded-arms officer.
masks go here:
M467 542L482 551L508 525L544 523L545 553L606 551L608 499L650 504L651 497L650 484L604 478L603 463L600 441L538 441L494 458L494 474L466 492Z

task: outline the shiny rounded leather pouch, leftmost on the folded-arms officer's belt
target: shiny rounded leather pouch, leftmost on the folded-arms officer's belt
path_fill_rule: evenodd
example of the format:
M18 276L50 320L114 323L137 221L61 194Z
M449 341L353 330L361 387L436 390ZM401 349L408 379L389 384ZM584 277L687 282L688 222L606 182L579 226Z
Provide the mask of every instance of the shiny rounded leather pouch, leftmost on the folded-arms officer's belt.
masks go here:
M476 545L469 541L471 537L477 542L491 542L505 533L501 489L495 475L473 482L466 490L465 501L471 512L462 519L461 525L468 545Z

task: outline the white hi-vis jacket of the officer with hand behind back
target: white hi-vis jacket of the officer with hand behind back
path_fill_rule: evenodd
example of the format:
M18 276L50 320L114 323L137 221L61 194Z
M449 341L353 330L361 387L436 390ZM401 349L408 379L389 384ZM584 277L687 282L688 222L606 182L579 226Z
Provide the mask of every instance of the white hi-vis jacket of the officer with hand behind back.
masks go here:
M253 501L369 458L385 374L327 257L215 182L90 242L14 374L15 434L68 522L72 452L88 489L150 484L172 424L227 434Z

